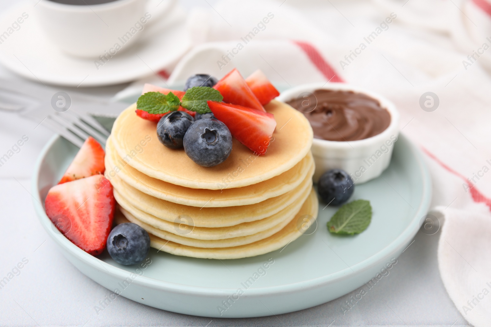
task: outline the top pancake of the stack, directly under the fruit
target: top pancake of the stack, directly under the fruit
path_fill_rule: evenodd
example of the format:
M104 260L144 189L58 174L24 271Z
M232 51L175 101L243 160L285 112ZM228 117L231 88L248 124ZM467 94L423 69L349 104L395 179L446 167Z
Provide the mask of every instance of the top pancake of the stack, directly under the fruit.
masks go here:
M219 190L259 183L295 166L312 145L312 128L303 114L273 100L265 109L274 115L277 125L266 154L256 156L234 138L227 160L202 167L184 149L173 150L160 143L157 124L136 116L135 109L134 103L114 122L114 149L122 158L129 156L129 165L141 173L189 188Z

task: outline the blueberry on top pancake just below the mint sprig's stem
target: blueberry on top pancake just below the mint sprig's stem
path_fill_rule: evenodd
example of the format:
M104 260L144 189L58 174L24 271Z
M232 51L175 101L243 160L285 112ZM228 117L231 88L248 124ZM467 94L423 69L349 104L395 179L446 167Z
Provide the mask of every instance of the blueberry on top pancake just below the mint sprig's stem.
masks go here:
M173 111L163 116L157 123L159 141L170 149L183 147L184 134L194 122L194 118L183 111Z

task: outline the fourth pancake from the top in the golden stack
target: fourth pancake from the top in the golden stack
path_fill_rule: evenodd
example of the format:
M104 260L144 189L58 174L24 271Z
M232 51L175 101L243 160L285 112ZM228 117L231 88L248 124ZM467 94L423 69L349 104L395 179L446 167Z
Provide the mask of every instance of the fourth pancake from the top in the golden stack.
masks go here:
M137 220L154 228L158 228L167 233L172 233L185 238L193 238L198 240L222 240L256 234L258 232L273 228L274 226L278 226L285 221L290 221L300 210L302 203L310 194L311 189L312 183L310 184L309 188L298 195L296 201L292 205L287 206L270 217L239 225L215 228L196 227L192 223L192 219L185 213L181 214L180 216L176 216L175 222L168 222L166 220L159 219L146 212L138 210L133 205L129 204L128 201L121 197L119 192L116 190L114 190L114 198L125 211L132 214ZM276 229L274 232L278 231L279 229ZM270 235L274 234L274 232Z

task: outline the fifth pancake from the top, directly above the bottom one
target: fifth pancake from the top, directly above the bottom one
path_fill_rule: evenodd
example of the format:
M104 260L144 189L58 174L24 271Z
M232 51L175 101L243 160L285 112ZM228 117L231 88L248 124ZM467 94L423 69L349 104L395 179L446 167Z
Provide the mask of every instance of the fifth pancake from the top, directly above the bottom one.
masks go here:
M194 238L188 238L188 237L183 237L180 235L176 235L173 233L169 233L167 231L164 231L159 228L155 228L151 225L145 224L142 221L138 220L133 216L131 213L123 209L122 207L119 208L121 210L121 213L128 219L130 223L134 223L143 229L145 229L149 234L155 235L160 238L164 238L166 240L182 244L182 245L187 245L190 247L195 247L195 248L229 248L229 247L237 247L241 245L246 245L250 243L254 243L257 241L260 241L262 239L265 239L267 237L270 237L271 235L277 233L283 227L288 225L290 221L295 217L295 215L291 215L288 217L289 219L285 219L282 222L280 222L278 225L273 226L271 228L268 228L266 230L260 231L258 233L252 234L252 235L246 235L246 236L241 236L241 237L232 237L232 238L226 238L222 240L199 240L199 239L194 239Z

